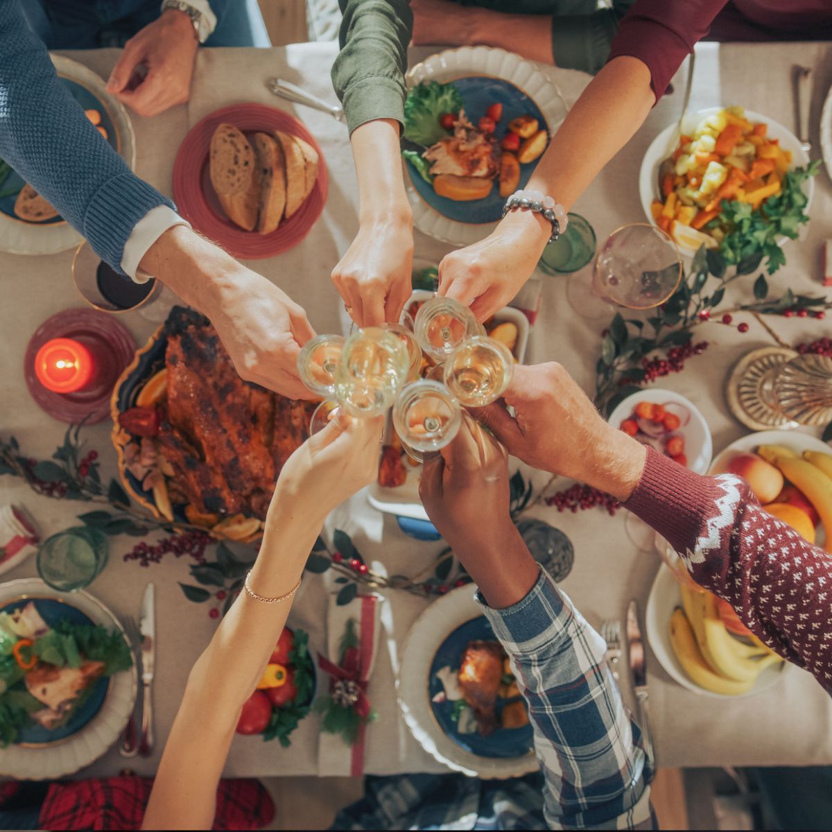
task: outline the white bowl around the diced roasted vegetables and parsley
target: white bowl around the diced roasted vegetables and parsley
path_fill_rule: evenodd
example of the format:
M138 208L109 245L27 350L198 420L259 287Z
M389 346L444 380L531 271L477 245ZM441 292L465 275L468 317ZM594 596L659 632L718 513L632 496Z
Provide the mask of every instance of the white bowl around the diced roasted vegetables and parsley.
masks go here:
M705 116L711 116L722 109L723 107L713 106L708 107L706 110L686 113L684 119L682 119L682 132L686 135L690 135L691 132L696 129L699 122L705 118ZM793 168L809 164L809 156L800 146L800 140L793 132L786 130L783 125L779 124L769 116L764 116L759 112L746 110L745 117L749 119L749 121L765 121L765 124L768 125L768 135L773 139L779 139L780 146L787 151L791 151ZM653 220L653 215L650 210L650 204L657 198L658 195L656 183L658 182L659 168L661 167L661 162L665 161L667 156L670 155L669 151L672 150L670 147L670 141L673 138L675 131L675 124L666 126L666 128L662 130L655 139L653 139L651 145L647 148L644 159L641 161L641 171L639 171L638 174L638 194L641 198L641 208L644 210L647 222L651 223L651 225L656 225L656 220ZM812 195L815 192L815 180L810 179L804 187L806 196L809 197L809 202L805 209L808 214L809 208L812 204ZM780 245L783 245L788 239L788 237L780 235L777 241ZM683 255L692 256L696 254L696 249L693 249L690 246L681 244L677 245L679 245L679 250L681 250Z

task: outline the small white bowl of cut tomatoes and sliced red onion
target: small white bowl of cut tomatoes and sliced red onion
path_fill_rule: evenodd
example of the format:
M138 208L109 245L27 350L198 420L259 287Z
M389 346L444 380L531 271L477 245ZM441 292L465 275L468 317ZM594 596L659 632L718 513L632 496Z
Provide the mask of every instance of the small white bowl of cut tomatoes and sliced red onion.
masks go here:
M610 414L609 423L695 473L706 473L713 443L705 417L672 390L640 390Z

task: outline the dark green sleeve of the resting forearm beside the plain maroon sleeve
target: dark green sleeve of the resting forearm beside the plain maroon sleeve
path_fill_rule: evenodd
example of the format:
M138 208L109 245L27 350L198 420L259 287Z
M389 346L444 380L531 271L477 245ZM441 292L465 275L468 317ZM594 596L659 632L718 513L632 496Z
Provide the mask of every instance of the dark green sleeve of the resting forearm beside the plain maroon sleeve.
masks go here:
M615 0L590 14L552 16L552 57L558 67L595 75L610 54L618 24L635 0Z

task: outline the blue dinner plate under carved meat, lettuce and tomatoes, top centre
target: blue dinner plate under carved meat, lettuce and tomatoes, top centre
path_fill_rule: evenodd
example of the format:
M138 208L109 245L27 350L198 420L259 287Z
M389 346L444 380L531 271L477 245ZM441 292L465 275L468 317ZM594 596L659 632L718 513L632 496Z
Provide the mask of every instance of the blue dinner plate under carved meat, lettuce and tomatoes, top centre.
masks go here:
M503 117L498 122L497 130L494 132L498 141L502 141L503 136L508 132L508 122L518 116L534 116L537 119L538 129L548 131L546 119L543 118L537 104L525 92L515 87L513 83L503 81L501 78L484 76L458 78L452 83L462 95L465 115L473 124L478 123L492 104L499 103L503 105ZM537 159L527 165L520 166L518 188L526 187L536 165ZM433 186L424 181L410 163L408 163L408 172L410 181L413 182L419 196L434 210L438 210L440 214L447 216L449 220L457 220L468 225L482 225L496 222L503 215L505 200L500 196L498 181L494 182L491 193L484 199L457 202L449 200L445 196L437 196L436 191L433 191Z

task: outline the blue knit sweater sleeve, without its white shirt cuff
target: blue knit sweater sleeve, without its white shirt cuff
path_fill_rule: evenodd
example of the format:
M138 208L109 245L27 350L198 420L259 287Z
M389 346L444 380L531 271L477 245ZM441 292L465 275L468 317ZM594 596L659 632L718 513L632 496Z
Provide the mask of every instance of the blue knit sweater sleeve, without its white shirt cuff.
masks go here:
M0 0L0 158L119 271L136 223L151 208L174 207L133 174L87 120L58 80L19 0Z

